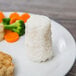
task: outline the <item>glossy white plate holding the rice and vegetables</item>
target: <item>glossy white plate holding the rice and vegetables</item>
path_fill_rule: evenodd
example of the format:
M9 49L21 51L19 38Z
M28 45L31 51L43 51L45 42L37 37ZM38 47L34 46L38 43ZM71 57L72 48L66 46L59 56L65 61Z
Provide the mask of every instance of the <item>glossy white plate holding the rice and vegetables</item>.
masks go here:
M9 13L5 13L6 16ZM10 54L15 64L15 76L64 76L76 57L72 35L60 24L51 20L54 58L44 63L34 63L25 55L24 36L15 43L0 42L0 50Z

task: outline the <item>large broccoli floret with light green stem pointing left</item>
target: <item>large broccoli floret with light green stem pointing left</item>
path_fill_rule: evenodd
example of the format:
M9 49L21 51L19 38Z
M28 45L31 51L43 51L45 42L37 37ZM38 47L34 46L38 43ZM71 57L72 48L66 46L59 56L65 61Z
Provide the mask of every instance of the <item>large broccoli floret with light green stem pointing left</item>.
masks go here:
M15 23L9 25L4 24L4 28L17 32L19 36L22 36L25 33L25 24L22 20L17 20Z

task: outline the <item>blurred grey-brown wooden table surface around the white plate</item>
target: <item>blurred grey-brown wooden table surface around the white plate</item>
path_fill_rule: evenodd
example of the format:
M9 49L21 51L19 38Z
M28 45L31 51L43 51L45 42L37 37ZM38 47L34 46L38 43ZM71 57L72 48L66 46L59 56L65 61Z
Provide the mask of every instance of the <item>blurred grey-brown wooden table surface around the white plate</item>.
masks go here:
M76 0L0 0L0 10L46 15L61 23L76 40ZM76 76L76 62L66 76Z

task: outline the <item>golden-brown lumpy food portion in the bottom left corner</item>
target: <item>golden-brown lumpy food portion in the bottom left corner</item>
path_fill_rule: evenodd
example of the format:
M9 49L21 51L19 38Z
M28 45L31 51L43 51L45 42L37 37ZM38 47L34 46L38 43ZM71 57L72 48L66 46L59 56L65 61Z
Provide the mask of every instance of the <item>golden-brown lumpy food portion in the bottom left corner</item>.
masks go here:
M3 52L0 52L0 76L14 76L12 57Z

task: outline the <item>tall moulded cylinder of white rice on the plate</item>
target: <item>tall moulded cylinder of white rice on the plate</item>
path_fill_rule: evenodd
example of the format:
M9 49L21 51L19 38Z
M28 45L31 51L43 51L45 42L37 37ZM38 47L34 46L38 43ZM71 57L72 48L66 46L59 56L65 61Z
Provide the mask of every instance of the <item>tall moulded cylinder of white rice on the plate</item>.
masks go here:
M36 62L53 56L50 19L42 15L31 15L26 23L25 49L28 57Z

